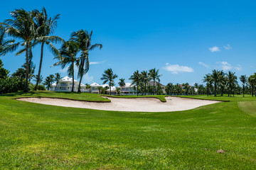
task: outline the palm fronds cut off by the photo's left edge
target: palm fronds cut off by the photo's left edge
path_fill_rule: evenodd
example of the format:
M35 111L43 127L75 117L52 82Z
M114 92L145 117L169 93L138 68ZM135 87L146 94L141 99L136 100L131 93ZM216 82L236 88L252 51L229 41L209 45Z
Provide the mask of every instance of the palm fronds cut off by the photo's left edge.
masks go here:
M6 55L6 52L9 52L13 47L15 40L6 40L6 29L0 25L0 56Z

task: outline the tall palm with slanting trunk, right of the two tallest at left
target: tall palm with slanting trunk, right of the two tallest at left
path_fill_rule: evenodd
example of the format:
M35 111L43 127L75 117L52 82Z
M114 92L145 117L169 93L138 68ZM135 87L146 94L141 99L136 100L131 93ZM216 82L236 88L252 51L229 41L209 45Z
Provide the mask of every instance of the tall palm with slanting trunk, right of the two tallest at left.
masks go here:
M54 29L57 27L57 20L60 16L58 14L54 18L48 18L48 15L46 13L46 8L43 8L40 11L34 10L33 15L35 16L35 26L36 26L36 44L41 43L41 57L40 57L40 64L38 69L38 77L41 75L41 68L43 63L43 47L44 45L48 45L51 52L53 52L53 55L57 56L59 55L58 50L53 46L52 42L63 42L63 39L50 35L54 32ZM39 84L39 79L36 81L35 91L37 90Z

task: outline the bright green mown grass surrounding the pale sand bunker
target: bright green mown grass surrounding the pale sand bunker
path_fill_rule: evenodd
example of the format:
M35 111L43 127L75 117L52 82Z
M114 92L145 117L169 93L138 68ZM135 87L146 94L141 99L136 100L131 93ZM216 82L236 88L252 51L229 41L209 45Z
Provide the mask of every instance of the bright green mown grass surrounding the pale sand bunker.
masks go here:
M1 169L256 169L256 118L238 107L246 101L255 108L255 97L216 97L230 102L190 111L132 113L13 99L23 96L105 100L54 92L1 95Z

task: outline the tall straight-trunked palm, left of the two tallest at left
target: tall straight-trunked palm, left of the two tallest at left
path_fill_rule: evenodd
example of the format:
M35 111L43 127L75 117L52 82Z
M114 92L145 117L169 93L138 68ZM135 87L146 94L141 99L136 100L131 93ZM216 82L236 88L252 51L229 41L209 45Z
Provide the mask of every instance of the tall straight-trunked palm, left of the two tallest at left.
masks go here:
M11 17L13 19L8 19L4 23L6 26L8 35L13 38L21 40L12 45L10 51L14 51L19 45L24 48L19 50L16 55L20 55L26 52L26 83L24 91L28 91L28 52L33 46L33 40L36 35L35 24L33 21L33 13L25 11L23 8L11 11Z

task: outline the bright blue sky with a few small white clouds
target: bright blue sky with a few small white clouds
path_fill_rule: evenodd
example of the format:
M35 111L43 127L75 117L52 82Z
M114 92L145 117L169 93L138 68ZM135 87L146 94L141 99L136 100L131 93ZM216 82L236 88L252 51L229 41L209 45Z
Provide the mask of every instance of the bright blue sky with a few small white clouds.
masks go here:
M256 69L255 1L4 1L0 21L16 8L46 7L61 13L54 35L68 40L74 30L93 30L102 50L90 52L90 70L82 83L97 82L112 68L129 81L135 70L159 69L161 83L202 83L212 69L253 74ZM57 45L58 46L58 45ZM40 46L33 49L36 73ZM65 70L45 48L43 77ZM1 57L12 72L25 62L15 53ZM117 80L118 81L118 80ZM116 83L117 83L116 81Z

